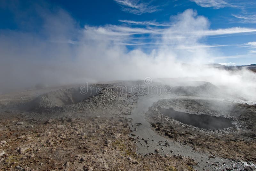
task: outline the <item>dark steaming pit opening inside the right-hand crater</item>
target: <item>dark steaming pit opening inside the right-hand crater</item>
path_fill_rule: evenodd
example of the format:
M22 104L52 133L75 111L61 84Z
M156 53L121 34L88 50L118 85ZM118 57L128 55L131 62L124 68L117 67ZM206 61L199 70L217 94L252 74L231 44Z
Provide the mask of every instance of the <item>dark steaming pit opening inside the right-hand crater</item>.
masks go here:
M222 129L233 127L232 120L222 116L196 115L185 112L179 112L173 108L158 108L164 115L187 125L193 125L204 129Z

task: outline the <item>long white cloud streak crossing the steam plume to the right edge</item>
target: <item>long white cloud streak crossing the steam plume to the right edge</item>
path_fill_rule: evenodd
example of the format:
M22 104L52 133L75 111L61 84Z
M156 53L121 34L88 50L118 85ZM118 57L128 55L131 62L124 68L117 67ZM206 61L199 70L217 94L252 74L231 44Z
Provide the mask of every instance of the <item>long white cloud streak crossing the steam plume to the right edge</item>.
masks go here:
M200 19L199 19L200 20ZM204 22L204 21L203 21ZM192 23L192 22L191 22ZM188 26L188 25L187 25ZM139 27L129 27L129 26L117 26L117 25L106 25L106 26L85 26L85 29L89 32L94 32L102 35L106 35L108 37L127 37L132 35L140 35L140 34L151 34L151 35L159 35L163 36L166 32L171 33L172 35L164 35L164 39L181 39L188 37L203 37L203 36L219 36L219 35L227 35L227 34L236 34L236 33L250 33L256 32L254 28L245 28L245 27L231 27L225 29L216 29L210 30L202 23L202 27L198 28L198 25L195 25L195 28L192 30L190 27L193 25L189 25L186 29L177 28L180 26L172 25L169 28L139 28ZM133 39L132 37L129 37ZM128 39L129 39L128 38ZM157 39L159 37L156 37ZM139 38L134 38L139 39ZM153 37L154 39L154 37ZM124 40L125 41L125 40Z

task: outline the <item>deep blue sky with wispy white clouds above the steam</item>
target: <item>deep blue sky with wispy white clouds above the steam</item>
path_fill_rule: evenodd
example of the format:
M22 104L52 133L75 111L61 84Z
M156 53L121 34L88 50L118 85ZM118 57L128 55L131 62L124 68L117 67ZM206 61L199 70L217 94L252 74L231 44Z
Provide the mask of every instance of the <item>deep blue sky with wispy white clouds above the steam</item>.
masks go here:
M11 49L23 49L13 45L16 37L21 44L67 43L72 53L56 53L73 56L79 44L103 37L125 53L168 49L183 63L256 63L254 0L1 1L0 9L0 36ZM48 60L56 56L51 47L44 46Z

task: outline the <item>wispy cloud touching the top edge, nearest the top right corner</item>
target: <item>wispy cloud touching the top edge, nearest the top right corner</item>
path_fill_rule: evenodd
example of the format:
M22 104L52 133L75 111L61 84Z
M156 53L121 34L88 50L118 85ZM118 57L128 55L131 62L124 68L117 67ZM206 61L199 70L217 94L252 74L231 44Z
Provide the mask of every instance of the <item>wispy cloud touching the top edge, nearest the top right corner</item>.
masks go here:
M220 9L228 6L233 6L231 4L228 4L224 0L190 0L192 2L195 2L197 5L201 7L212 7L213 9Z

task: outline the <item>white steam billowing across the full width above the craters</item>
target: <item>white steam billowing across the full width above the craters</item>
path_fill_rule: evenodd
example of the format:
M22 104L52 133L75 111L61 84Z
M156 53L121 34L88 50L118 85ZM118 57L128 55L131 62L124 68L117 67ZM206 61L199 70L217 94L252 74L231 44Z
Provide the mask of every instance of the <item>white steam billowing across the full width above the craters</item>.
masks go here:
M214 57L221 55L220 51L201 43L205 36L253 30L210 30L208 19L190 9L171 16L170 26L164 28L125 24L81 28L62 9L36 8L42 20L39 33L0 30L0 93L38 83L52 86L145 77L193 77L255 100L256 76L251 71L230 73L195 67L214 63ZM136 37L138 34L147 34L144 39L150 38L152 42L143 40L143 36ZM131 50L126 45L137 45L132 46L137 48ZM145 50L146 47L150 50Z

